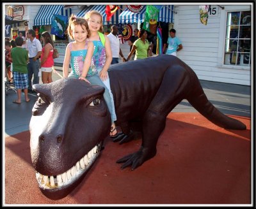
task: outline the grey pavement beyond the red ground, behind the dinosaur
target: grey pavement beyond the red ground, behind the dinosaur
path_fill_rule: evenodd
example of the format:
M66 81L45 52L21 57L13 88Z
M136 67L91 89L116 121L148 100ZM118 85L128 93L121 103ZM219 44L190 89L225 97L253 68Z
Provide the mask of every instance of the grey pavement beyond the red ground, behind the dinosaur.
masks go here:
M56 66L56 71L62 75L62 67ZM57 73L52 73L52 80L61 77ZM42 83L40 79L40 83ZM200 80L209 101L228 115L238 115L251 117L251 87L245 85L234 85L229 83L209 82ZM29 130L31 110L36 101L36 94L29 94L31 101L25 102L22 92L22 103L20 105L12 103L16 99L16 93L9 90L4 96L4 130L5 137ZM184 100L177 105L172 112L197 112L188 101Z

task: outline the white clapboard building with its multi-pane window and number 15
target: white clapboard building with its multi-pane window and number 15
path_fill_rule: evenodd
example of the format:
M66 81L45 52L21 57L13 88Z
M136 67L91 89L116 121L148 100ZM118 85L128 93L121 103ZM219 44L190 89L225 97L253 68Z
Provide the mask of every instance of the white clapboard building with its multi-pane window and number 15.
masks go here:
M200 5L177 5L177 53L200 80L251 85L252 5L211 5L207 24L200 22Z

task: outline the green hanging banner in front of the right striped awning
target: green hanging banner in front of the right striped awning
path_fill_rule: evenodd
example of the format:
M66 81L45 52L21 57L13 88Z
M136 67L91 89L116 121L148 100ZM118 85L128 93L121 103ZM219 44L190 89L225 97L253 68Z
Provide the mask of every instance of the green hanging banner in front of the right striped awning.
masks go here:
M159 10L161 10L161 8L162 6L160 5L147 5L143 29L151 32L152 34L156 34L156 24L159 15Z

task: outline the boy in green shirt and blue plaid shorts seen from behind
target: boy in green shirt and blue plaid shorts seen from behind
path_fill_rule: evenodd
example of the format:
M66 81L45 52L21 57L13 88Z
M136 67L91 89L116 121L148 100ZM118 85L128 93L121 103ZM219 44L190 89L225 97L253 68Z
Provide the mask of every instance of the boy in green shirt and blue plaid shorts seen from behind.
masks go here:
M28 97L28 51L22 48L23 39L17 37L15 39L17 47L12 48L11 57L13 63L13 78L15 88L17 90L17 99L13 103L20 105L21 103L21 90L24 89L26 102L30 101Z

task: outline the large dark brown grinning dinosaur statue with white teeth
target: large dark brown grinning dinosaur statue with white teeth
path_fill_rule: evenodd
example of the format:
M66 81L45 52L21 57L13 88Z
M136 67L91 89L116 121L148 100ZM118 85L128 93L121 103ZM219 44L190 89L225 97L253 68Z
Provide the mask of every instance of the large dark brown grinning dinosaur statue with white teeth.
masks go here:
M187 99L204 117L225 129L244 130L239 120L227 117L207 99L187 64L172 55L115 64L109 68L117 121L122 133L113 141L134 138L132 121L141 122L142 143L137 152L119 159L121 168L138 168L156 155L157 140L166 117ZM30 147L36 180L45 196L67 196L99 157L111 119L104 88L82 80L62 78L35 84L38 100L29 124Z

